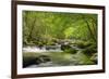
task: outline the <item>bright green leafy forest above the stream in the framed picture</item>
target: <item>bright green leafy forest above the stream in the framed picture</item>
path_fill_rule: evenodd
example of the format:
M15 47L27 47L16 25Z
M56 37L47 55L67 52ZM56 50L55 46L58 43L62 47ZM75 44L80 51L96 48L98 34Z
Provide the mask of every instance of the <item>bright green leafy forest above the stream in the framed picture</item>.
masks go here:
M23 11L23 44L59 40L97 42L97 14Z

